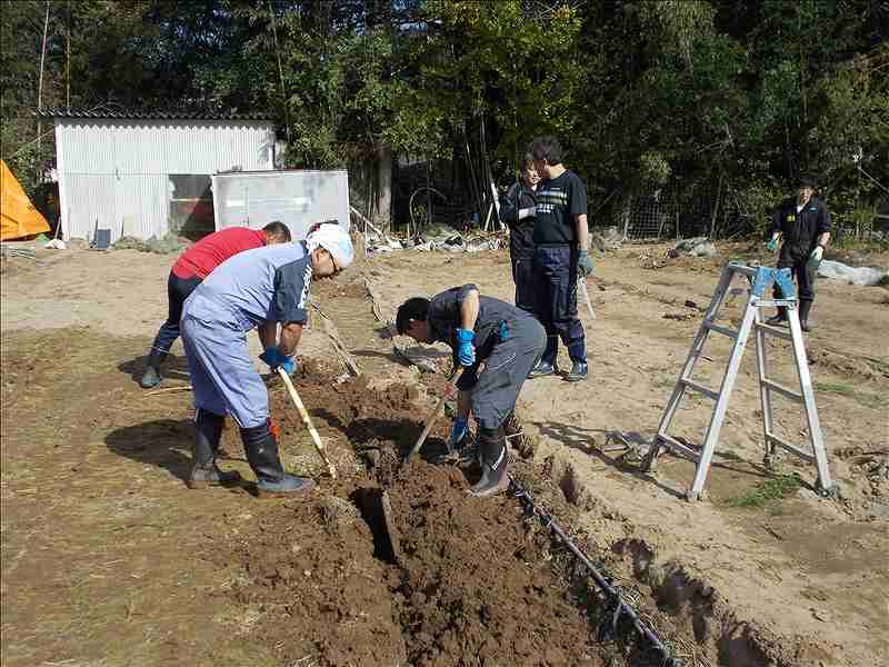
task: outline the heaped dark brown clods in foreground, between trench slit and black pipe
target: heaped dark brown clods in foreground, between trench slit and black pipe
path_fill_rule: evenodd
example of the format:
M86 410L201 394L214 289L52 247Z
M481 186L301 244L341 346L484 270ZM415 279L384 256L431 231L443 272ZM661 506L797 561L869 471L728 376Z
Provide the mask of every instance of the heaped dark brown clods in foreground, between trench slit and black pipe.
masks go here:
M416 665L600 665L581 610L545 561L525 561L516 501L467 496L419 461L389 489L401 535L400 621Z

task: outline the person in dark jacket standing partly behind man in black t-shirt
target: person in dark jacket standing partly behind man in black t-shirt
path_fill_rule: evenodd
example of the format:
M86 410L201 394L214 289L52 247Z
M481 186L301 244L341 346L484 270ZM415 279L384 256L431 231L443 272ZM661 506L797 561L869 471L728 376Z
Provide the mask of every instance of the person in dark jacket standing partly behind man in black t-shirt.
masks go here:
M525 157L521 183L513 183L500 199L500 219L509 226L509 257L512 260L512 281L516 283L516 306L526 312L535 311L535 192L540 177L530 153Z

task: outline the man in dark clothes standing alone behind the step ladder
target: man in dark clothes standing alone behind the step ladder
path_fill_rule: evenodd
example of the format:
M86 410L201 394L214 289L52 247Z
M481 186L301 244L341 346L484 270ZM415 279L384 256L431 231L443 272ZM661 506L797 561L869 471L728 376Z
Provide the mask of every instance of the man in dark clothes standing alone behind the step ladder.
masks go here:
M772 217L771 239L768 243L769 250L775 251L778 249L779 238L783 237L778 268L791 269L797 280L799 321L803 331L811 330L809 312L815 301L815 278L830 240L830 213L825 203L815 197L815 179L799 179L796 199L782 202ZM776 298L780 298L777 288ZM778 315L769 318L768 323L778 325L785 321L787 308L779 307Z

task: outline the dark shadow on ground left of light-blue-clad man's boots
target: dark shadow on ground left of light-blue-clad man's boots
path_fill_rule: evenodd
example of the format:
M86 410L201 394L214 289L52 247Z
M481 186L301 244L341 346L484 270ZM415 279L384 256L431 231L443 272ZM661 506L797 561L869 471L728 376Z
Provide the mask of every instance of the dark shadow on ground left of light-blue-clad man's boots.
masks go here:
M116 429L104 442L119 456L158 466L184 481L191 470L193 437L190 419L156 419Z

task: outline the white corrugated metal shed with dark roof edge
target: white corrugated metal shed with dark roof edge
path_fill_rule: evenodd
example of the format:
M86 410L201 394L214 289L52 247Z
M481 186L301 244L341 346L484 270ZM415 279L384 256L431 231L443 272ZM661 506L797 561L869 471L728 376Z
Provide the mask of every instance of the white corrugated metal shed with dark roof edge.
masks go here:
M112 241L163 237L171 220L179 227L202 202L201 210L212 211L213 173L273 168L274 130L268 120L42 115L56 122L62 232L69 239L91 239L97 228L110 229ZM202 179L207 190L196 193Z

